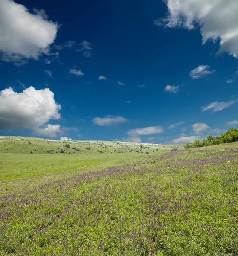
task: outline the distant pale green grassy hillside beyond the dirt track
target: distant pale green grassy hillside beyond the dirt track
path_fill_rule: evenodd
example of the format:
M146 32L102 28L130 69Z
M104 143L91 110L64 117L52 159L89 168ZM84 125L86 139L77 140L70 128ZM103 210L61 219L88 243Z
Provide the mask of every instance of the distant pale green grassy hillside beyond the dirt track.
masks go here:
M70 148L67 148L66 145L69 145ZM64 153L61 153L61 148ZM102 162L114 165L138 156L160 154L170 149L170 145L146 143L65 142L0 136L0 180L70 171Z

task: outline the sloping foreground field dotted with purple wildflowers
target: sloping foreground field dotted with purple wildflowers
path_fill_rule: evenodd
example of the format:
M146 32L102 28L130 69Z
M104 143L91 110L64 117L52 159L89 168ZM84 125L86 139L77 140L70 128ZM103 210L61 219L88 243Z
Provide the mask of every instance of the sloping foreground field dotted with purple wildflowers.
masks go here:
M151 155L4 195L0 254L238 255L238 143Z

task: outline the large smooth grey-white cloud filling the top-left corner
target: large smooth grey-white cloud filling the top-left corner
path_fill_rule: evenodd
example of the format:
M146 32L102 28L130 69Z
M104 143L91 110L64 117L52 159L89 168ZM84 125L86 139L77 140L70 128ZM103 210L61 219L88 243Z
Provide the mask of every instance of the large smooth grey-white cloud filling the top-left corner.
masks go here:
M28 58L49 53L58 24L48 20L44 10L29 10L12 0L0 0L0 52L3 61L20 66Z

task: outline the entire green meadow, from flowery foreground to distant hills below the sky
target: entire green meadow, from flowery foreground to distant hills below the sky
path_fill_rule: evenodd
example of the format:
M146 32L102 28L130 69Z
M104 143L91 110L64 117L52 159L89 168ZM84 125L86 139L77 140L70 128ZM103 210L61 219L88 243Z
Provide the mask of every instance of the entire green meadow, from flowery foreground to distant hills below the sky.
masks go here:
M0 145L0 255L238 254L237 142Z

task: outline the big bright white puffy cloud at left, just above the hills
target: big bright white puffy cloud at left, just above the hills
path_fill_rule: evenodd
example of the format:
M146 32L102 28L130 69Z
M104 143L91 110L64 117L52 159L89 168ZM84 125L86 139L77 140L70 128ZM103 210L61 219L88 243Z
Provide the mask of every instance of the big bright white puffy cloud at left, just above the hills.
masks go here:
M12 88L0 92L0 129L25 128L35 134L55 137L60 125L47 124L51 119L60 119L61 105L54 99L54 93L45 88L35 90L29 87L21 93Z

